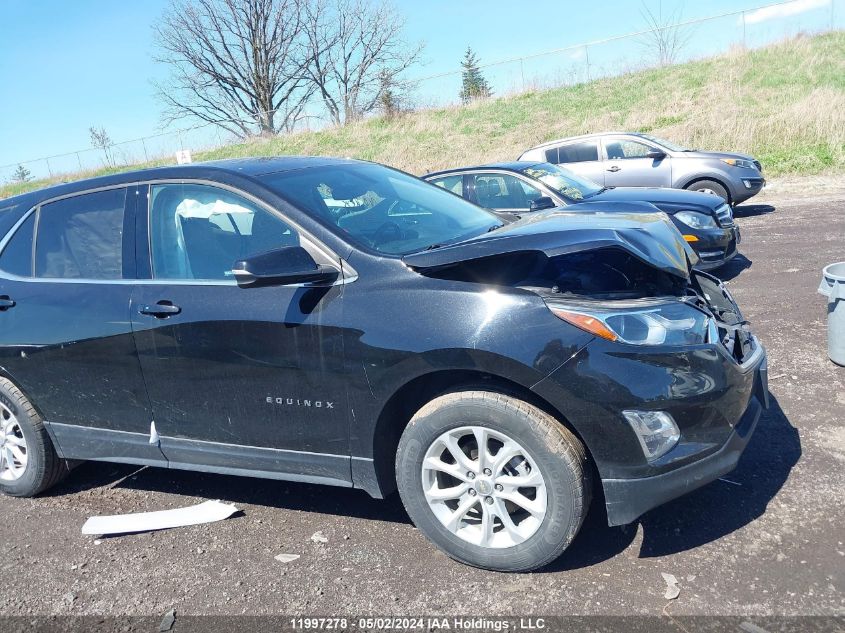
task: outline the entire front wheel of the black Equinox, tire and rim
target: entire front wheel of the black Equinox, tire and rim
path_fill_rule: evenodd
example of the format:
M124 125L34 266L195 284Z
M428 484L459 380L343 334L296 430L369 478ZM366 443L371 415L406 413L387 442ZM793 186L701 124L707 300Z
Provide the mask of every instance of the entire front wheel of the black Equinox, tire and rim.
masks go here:
M479 445L487 446L488 472ZM589 508L589 472L583 445L555 418L489 391L426 404L396 454L399 494L417 528L455 560L497 571L529 571L560 556Z

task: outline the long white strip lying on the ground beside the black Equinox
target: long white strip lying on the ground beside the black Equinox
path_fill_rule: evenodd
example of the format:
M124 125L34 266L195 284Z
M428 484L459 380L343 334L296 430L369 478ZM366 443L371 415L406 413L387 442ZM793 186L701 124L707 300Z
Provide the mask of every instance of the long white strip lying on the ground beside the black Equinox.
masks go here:
M168 528L213 523L232 516L238 509L220 501L205 501L188 508L161 510L159 512L138 512L115 514L105 517L90 517L82 526L83 534L129 534L150 532Z

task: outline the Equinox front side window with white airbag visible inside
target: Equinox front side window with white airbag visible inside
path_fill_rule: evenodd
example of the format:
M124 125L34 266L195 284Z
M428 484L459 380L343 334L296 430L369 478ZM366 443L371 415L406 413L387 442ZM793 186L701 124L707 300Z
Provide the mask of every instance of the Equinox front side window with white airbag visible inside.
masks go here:
M299 235L249 200L210 185L153 185L150 250L156 279L234 279L236 261Z

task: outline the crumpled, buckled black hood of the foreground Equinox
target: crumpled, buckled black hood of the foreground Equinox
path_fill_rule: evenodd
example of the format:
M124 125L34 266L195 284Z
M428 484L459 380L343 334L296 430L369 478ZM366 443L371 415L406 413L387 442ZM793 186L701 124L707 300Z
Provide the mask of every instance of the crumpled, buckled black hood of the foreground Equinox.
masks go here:
M403 261L411 268L431 271L497 255L539 252L551 258L611 248L683 279L689 279L689 262L698 261L663 213L559 209L532 213L457 244L405 255Z

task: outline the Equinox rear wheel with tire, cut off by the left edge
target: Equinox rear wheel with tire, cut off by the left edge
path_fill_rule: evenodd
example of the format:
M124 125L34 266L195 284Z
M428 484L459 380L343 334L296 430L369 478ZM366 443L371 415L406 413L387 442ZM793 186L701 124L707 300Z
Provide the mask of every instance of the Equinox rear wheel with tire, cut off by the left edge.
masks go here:
M0 491L32 497L67 473L41 416L14 383L0 378Z

